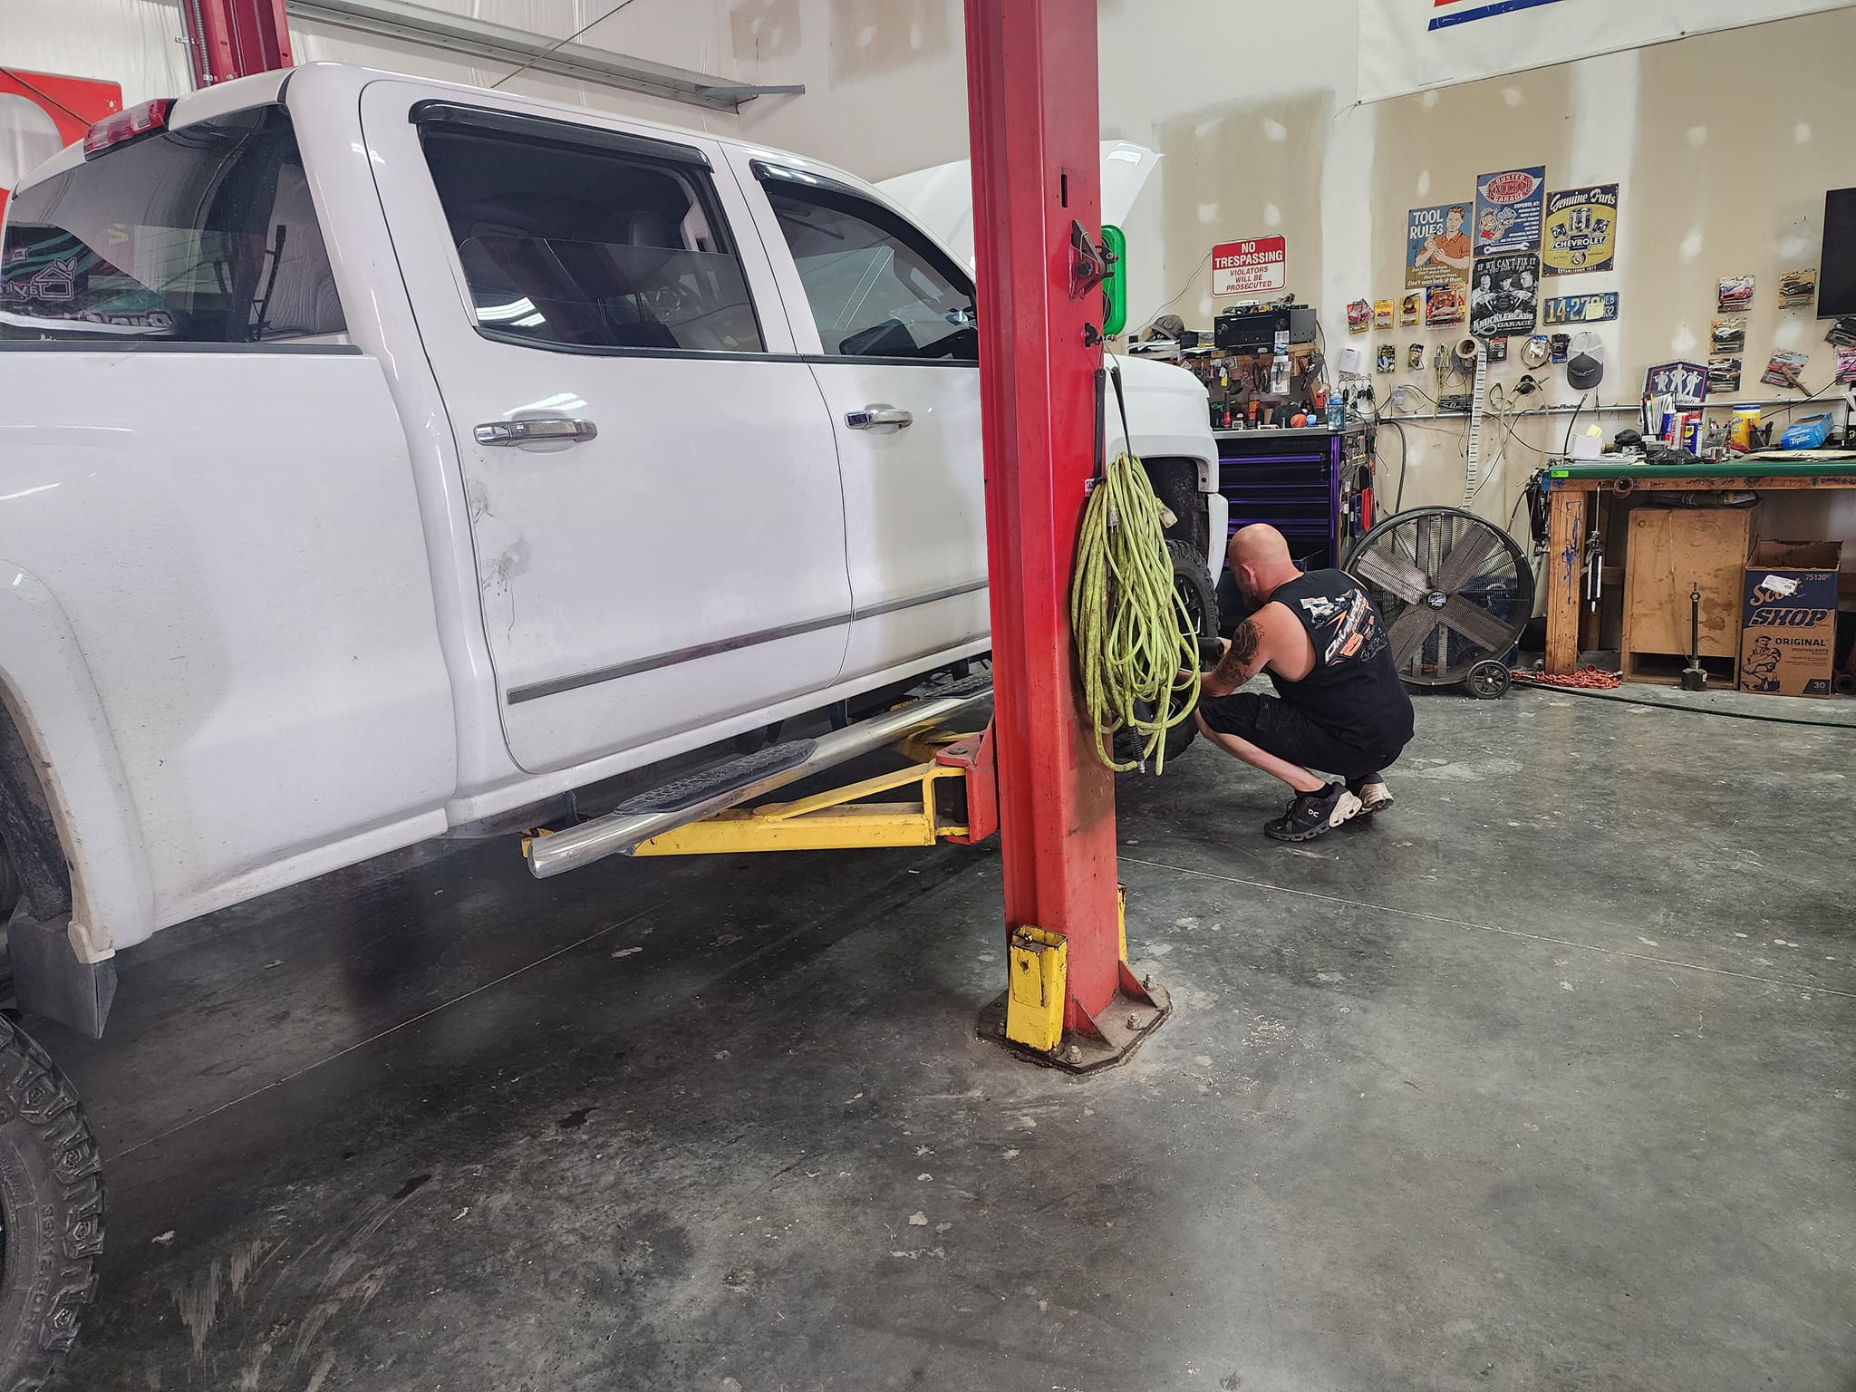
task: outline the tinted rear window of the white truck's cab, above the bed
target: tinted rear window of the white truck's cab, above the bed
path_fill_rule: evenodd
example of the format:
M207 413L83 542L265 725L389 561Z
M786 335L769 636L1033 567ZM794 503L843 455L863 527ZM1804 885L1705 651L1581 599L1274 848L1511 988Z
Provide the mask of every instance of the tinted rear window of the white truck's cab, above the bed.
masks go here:
M260 343L343 329L280 106L106 150L7 204L0 340Z

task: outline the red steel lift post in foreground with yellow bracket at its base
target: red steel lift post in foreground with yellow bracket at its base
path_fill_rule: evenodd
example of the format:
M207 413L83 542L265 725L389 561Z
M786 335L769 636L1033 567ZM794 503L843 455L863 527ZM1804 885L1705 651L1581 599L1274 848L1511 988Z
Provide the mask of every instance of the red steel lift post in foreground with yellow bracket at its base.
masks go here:
M1012 986L982 1017L1069 1067L1121 1058L1166 1013L1123 956L1115 798L1078 702L1069 624L1095 470L1102 295L1095 0L967 0L980 290L993 728ZM1049 1026L1025 997L1045 991ZM1052 995L1054 993L1054 995ZM1010 1004L1008 1004L1010 1002ZM1058 1017L1058 1006L1062 1013ZM1056 1036L1058 1028L1062 1038Z

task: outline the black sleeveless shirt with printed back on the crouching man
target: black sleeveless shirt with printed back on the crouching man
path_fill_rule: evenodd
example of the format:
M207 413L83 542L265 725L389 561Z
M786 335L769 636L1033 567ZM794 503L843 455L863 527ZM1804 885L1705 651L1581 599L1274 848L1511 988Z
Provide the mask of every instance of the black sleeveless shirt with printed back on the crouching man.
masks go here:
M1270 603L1288 609L1314 644L1314 670L1301 681L1270 674L1277 696L1362 752L1401 750L1412 733L1411 696L1366 590L1338 570L1312 570L1277 586Z

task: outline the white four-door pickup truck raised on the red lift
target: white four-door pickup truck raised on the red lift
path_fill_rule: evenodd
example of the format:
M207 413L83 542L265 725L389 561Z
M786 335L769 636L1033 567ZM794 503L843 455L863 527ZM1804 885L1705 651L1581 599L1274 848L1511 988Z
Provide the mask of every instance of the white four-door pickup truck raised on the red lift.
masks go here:
M342 65L97 126L0 252L20 1004L100 1030L163 926L984 655L976 356L958 256L742 141ZM1121 373L1203 572L1205 390Z

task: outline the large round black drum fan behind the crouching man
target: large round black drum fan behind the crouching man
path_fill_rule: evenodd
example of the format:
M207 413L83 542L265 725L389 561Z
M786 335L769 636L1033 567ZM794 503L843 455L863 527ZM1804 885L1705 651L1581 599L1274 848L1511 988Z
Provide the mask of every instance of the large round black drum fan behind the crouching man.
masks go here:
M1414 687L1509 689L1509 653L1533 616L1533 568L1514 538L1474 512L1422 507L1386 518L1347 557L1377 605L1392 666Z

